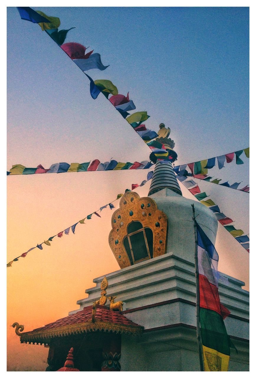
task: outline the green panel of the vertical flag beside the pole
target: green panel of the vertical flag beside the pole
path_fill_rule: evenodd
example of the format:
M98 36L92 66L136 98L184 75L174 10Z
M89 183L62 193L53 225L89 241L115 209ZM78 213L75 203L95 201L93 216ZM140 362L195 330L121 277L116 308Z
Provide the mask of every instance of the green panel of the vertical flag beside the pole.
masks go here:
M230 340L220 314L200 308L200 328L203 345L230 356Z

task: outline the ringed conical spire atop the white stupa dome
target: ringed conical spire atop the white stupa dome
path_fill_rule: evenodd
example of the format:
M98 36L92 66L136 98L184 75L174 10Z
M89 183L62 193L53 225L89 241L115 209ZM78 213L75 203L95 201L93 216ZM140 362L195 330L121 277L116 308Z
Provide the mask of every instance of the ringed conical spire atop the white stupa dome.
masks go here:
M182 195L172 164L169 162L160 163L160 161L157 161L148 195L154 194L165 188Z

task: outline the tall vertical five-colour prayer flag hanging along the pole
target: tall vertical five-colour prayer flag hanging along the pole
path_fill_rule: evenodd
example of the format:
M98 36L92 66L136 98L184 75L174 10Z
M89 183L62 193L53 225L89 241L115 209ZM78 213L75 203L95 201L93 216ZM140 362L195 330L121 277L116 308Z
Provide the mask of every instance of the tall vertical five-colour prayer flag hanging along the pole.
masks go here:
M221 304L219 298L217 272L219 256L214 245L197 223L196 233L204 371L228 371L231 342L223 319L230 314L230 311Z

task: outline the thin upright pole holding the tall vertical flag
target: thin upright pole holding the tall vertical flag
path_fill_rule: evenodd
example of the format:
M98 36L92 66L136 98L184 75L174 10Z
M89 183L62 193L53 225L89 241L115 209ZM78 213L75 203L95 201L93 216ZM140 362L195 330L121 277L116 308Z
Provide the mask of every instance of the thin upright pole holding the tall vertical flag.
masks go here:
M197 257L197 236L196 236L196 217L195 217L195 209L194 204L191 204L193 209L193 222L194 222L194 237L195 237L195 269L196 269L196 339L197 339L197 346L199 351L199 361L200 361L200 371L204 371L204 361L203 361L203 351L202 351L202 340L201 340L201 332L200 332L200 319L199 319L199 311L200 311L200 293L199 293L199 272L198 272L198 257Z

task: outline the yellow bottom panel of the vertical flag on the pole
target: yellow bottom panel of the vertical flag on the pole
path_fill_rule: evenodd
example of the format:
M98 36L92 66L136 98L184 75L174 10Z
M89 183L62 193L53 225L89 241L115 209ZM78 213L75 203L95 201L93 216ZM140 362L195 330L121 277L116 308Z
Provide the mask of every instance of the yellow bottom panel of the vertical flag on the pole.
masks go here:
M203 347L204 371L205 372L227 372L229 357L215 349Z

